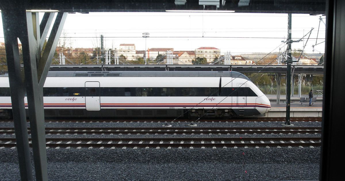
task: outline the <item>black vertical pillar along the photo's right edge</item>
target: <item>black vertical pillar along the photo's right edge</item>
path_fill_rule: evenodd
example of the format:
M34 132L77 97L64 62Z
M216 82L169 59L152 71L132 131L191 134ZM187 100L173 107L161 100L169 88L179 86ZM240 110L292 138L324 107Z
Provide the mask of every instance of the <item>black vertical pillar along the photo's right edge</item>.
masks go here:
M345 1L326 1L326 52L320 180L344 179Z

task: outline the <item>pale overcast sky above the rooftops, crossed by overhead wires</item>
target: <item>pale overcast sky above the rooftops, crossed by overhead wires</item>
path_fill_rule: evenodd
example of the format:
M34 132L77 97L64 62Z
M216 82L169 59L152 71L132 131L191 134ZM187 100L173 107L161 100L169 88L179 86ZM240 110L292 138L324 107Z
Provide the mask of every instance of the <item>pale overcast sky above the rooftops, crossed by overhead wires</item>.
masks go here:
M42 18L43 13L40 18ZM323 16L325 18L325 16ZM326 22L326 19L323 19ZM0 22L2 26L2 22ZM287 38L287 14L268 13L181 13L181 12L111 12L68 14L63 34L67 46L100 46L104 36L106 48L121 43L134 43L137 50L145 49L143 32L149 32L146 48L195 50L201 46L216 47L221 54L271 52ZM299 39L314 27L305 51L313 53L319 16L293 14L292 37ZM0 31L3 42L3 30ZM325 38L321 22L317 42ZM60 38L60 40L63 38ZM306 38L305 38L306 40ZM304 42L305 43L305 42ZM292 48L302 48L303 42ZM324 53L325 44L315 46L314 53ZM283 47L280 46L280 47Z

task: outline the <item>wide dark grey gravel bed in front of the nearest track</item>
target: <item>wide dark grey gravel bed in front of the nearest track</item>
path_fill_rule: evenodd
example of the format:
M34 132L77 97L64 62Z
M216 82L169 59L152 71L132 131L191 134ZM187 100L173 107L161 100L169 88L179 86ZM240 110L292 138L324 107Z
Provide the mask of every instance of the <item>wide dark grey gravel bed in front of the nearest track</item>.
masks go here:
M0 157L0 180L20 180L17 150ZM320 147L47 149L53 181L318 180L319 161Z

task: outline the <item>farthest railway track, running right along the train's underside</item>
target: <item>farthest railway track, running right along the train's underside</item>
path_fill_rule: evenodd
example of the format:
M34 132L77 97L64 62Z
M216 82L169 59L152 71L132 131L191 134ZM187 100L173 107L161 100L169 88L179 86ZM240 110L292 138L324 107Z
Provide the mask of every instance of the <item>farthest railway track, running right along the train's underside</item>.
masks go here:
M27 120L29 122L29 120ZM46 122L172 122L172 119L160 119L160 120L116 120L116 119L108 119L108 120L99 120L99 119L90 119L90 120L83 120L83 119L62 119L62 120L45 120ZM231 120L221 120L221 119L204 119L199 120L198 122L276 122L276 121L285 121L285 117L246 117L246 118L237 118ZM322 117L292 117L290 119L292 122L321 122ZM0 122L13 122L13 120L0 120ZM195 122L195 120L175 120L174 122Z

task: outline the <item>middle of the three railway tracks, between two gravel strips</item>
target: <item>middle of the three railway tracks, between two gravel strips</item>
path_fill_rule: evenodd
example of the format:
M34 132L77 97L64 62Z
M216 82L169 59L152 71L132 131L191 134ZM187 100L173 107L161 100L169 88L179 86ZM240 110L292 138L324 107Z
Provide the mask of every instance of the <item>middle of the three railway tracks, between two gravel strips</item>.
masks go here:
M0 134L14 128L0 127ZM46 134L321 134L321 127L46 127Z

